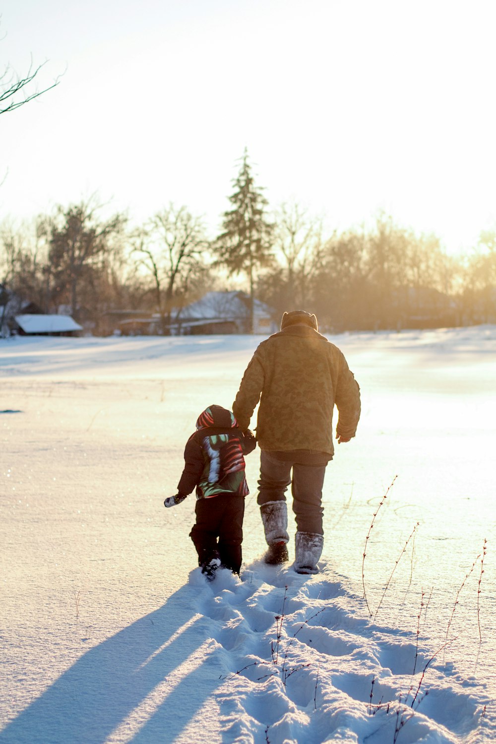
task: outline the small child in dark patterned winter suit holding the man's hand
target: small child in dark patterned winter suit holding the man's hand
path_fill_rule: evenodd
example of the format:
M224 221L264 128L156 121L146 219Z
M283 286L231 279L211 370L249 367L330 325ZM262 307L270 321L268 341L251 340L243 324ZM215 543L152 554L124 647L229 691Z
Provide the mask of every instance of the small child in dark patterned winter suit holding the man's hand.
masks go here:
M255 449L254 435L239 429L234 414L209 405L196 421L184 449L178 493L164 501L172 507L196 487L196 524L190 532L202 574L211 581L219 566L239 574L242 524L248 485L245 458Z

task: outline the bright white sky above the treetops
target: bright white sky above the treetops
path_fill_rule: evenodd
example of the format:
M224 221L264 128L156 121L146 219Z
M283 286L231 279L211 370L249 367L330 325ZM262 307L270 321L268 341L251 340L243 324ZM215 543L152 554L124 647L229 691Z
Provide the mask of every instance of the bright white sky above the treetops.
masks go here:
M215 234L246 146L271 207L466 250L496 225L495 26L494 0L4 0L4 64L65 74L1 116L0 219L97 192Z

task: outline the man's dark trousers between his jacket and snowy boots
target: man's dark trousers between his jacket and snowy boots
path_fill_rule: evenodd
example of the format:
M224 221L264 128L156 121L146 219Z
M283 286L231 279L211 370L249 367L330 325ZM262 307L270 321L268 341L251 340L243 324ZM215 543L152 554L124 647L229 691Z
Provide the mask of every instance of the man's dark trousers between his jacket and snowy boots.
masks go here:
M291 484L298 532L323 535L322 487L330 458L326 452L306 449L294 452L262 450L257 504L262 506L268 501L286 501L286 489Z

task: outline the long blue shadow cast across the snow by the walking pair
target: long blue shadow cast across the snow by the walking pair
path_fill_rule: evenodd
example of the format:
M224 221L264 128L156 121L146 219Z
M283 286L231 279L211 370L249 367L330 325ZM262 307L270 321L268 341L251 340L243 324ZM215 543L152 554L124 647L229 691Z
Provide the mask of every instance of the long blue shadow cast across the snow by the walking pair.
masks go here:
M120 725L127 741L173 741L225 671L211 620L197 609L205 589L181 587L86 652L0 732L0 743L94 744Z

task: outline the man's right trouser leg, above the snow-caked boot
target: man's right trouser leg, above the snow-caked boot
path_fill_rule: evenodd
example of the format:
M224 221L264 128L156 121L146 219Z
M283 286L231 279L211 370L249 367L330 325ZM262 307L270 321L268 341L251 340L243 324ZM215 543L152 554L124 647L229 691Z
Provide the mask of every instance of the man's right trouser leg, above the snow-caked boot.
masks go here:
M298 532L323 535L322 487L326 465L293 465L293 511Z

